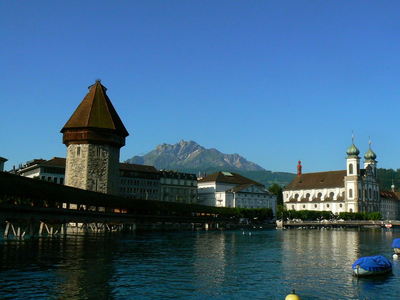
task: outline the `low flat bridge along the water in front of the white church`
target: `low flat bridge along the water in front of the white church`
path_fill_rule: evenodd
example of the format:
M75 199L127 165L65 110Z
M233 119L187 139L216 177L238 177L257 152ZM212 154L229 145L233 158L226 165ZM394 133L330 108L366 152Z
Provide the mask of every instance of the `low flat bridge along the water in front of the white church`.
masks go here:
M357 227L381 227L386 228L385 221L363 221L363 220L324 220L324 221L285 221L283 228L298 228L298 229L321 229L321 228L348 228ZM390 227L400 227L400 221L390 221Z

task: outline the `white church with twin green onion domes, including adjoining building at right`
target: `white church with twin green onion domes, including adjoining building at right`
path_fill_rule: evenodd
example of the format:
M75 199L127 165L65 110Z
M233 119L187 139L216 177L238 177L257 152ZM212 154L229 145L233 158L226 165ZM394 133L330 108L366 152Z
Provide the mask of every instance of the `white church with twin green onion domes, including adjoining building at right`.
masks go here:
M379 190L376 154L371 142L364 154L363 168L360 168L359 153L352 136L346 151L345 170L302 173L301 161L298 161L297 176L283 189L286 208L332 213L379 211L387 219L398 219L400 200L394 186L391 191Z

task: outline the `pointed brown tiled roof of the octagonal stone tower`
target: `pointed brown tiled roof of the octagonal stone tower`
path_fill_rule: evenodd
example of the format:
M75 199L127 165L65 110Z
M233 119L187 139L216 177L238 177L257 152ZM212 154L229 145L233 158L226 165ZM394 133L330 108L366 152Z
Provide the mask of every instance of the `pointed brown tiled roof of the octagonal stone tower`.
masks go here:
M61 132L73 128L105 129L126 137L129 135L99 79L89 87L89 92L65 123Z

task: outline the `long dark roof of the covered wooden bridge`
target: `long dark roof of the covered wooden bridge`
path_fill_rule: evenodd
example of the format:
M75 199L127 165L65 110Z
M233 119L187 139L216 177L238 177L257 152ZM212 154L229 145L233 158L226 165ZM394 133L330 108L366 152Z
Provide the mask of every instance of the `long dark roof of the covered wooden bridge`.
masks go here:
M147 211L234 214L227 207L131 199L0 172L0 202L8 197Z

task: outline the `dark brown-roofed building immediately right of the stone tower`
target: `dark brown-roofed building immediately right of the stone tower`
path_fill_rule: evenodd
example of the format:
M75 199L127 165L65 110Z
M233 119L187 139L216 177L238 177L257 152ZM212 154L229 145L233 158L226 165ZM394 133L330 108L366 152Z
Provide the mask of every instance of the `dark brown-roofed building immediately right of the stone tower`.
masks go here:
M119 195L159 200L160 172L152 165L119 163Z

